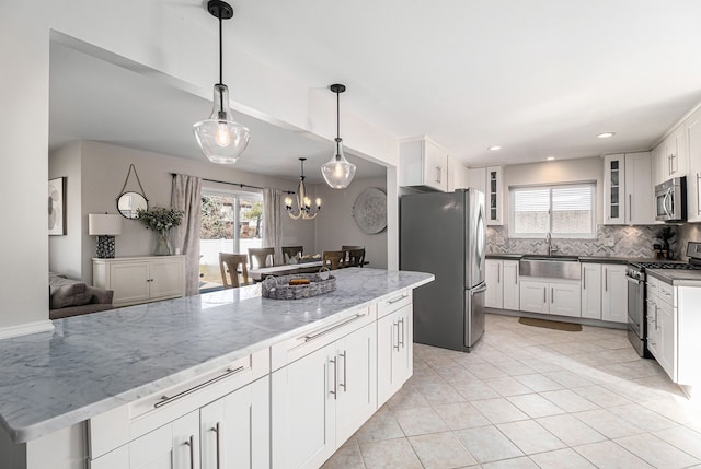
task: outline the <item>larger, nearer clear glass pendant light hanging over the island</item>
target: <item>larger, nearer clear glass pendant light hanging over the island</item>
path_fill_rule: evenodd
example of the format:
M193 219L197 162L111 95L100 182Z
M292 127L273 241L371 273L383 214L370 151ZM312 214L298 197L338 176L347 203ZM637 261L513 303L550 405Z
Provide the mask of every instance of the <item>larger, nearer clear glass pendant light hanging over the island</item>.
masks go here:
M249 144L249 129L231 120L229 87L222 78L221 22L233 17L233 9L221 0L209 0L207 11L219 19L219 83L215 84L214 106L208 119L193 126L195 138L205 156L212 163L233 164Z

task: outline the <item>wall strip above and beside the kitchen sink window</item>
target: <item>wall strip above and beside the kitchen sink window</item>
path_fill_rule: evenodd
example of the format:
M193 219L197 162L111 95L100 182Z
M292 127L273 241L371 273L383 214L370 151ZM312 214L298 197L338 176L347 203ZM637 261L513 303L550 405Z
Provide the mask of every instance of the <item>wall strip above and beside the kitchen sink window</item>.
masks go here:
M597 224L602 222L604 160L599 156L505 166L503 175L505 224L509 219L509 186L588 180L596 180L596 222Z

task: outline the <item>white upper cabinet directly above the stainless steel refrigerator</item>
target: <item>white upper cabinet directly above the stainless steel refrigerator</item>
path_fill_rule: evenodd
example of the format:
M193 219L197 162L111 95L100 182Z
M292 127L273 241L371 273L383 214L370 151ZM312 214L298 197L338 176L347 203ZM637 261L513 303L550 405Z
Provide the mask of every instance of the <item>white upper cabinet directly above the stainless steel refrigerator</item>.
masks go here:
M400 186L448 190L448 152L428 139L402 142Z

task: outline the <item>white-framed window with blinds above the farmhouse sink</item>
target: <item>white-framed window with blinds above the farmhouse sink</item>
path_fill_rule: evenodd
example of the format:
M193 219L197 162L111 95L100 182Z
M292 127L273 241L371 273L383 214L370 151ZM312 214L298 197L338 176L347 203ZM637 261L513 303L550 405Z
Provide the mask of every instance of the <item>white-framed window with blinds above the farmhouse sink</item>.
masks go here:
M512 237L596 237L596 183L512 187Z

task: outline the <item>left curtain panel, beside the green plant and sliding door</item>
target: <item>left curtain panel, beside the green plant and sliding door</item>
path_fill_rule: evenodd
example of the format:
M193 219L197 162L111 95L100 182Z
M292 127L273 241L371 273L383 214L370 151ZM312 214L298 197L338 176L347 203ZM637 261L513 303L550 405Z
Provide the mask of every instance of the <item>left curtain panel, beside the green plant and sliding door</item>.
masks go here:
M199 226L202 224L202 179L173 176L171 207L183 211L183 222L173 230L173 247L185 258L185 294L199 293Z

